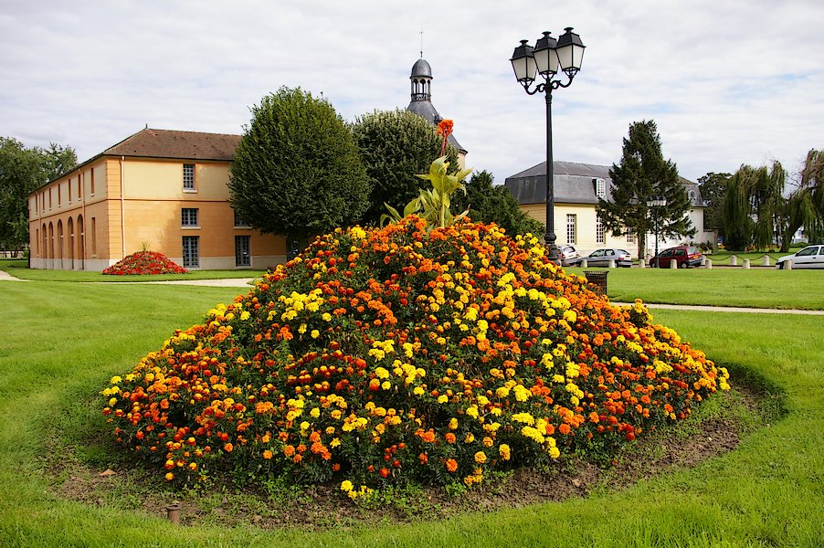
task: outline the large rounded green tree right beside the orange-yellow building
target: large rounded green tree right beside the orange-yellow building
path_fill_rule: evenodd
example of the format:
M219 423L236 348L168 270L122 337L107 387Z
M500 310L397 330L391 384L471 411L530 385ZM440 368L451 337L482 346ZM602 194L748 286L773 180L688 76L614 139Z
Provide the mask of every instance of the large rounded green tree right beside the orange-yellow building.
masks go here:
M238 216L261 232L305 240L364 213L364 166L352 133L327 100L281 88L252 114L229 180Z

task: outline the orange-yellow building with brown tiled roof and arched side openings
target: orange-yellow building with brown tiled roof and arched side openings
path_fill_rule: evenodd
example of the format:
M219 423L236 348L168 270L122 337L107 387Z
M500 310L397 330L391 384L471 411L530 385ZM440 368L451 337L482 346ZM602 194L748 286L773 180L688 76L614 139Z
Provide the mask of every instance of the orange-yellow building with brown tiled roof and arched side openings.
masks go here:
M100 271L149 248L186 269L265 269L284 238L229 205L239 135L146 128L28 196L33 269Z

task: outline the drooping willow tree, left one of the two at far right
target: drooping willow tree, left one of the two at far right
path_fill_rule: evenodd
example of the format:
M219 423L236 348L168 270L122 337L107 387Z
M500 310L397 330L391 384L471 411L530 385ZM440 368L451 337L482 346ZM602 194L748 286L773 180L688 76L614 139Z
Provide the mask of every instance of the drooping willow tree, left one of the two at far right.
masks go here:
M787 172L781 163L752 167L742 165L727 184L724 195L724 231L727 247L736 251L750 245L767 248L777 244L787 225Z

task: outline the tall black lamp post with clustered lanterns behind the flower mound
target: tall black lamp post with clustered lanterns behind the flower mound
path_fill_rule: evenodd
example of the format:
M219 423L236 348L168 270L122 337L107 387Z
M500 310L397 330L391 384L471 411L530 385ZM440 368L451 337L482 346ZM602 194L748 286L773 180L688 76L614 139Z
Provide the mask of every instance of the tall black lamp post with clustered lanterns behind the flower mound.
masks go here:
M555 175L553 169L552 152L552 92L558 88L568 88L572 80L581 69L581 59L584 57L584 44L581 37L572 32L567 26L563 35L555 40L552 33L544 32L544 36L530 46L528 40L521 40L521 45L515 47L512 53L512 69L515 79L523 86L529 95L543 92L546 102L546 234L544 242L549 248L549 258L558 261L558 247L555 245ZM563 72L566 81L555 79L558 72ZM535 73L543 79L530 89L535 81Z

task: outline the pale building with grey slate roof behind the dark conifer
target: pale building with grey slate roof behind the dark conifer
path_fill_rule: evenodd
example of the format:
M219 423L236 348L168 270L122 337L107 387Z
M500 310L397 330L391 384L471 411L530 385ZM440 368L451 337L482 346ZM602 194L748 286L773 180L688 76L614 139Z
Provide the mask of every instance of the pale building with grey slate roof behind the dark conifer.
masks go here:
M581 254L597 248L620 248L638 256L638 240L634 235L614 237L600 222L596 214L598 197L612 199L612 179L609 166L591 163L554 162L553 182L555 192L555 243L558 246L573 244ZM546 163L506 178L504 184L518 200L521 209L541 223L546 221ZM692 208L690 222L697 231L694 237L665 239L659 237L659 248L681 243L715 241L715 232L703 228L703 200L698 184L686 179L681 182L687 188ZM647 255L655 248L655 234L647 235Z

